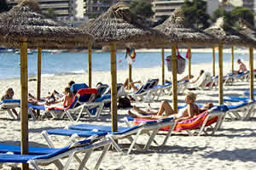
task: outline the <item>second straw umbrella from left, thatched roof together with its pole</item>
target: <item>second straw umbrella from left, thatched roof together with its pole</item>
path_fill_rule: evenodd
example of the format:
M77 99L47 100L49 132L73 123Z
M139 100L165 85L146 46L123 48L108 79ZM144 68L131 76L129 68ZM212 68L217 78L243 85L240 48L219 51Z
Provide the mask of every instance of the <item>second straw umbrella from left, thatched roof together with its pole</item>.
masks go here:
M109 45L111 51L111 114L113 131L117 130L116 91L116 45L125 47L127 43L154 46L175 37L166 37L160 31L144 26L141 17L131 14L125 3L116 3L84 29L96 37L96 44ZM172 34L171 34L172 35Z

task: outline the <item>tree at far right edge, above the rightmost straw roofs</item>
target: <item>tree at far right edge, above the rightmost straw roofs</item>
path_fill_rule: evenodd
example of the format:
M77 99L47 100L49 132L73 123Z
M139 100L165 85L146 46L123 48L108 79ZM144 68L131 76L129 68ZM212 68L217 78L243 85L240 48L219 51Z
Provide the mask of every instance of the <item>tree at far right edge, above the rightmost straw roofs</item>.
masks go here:
M253 11L248 8L236 7L232 10L232 16L234 17L234 20L239 20L241 18L254 26L254 14Z

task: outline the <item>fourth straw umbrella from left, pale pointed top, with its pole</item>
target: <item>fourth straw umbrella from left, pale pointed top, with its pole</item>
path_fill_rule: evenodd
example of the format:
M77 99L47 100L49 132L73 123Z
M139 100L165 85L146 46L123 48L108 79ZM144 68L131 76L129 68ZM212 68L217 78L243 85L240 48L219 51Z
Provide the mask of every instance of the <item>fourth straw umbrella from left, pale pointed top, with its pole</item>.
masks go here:
M244 34L232 29L230 26L225 25L224 18L219 18L216 23L210 28L205 30L208 34L217 37L218 44L218 93L219 104L222 105L223 101L223 44L231 44L238 46L246 46L250 48L250 63L253 62L253 45L255 41ZM251 60L252 55L252 60ZM252 70L253 71L253 70ZM251 86L251 89L253 86Z

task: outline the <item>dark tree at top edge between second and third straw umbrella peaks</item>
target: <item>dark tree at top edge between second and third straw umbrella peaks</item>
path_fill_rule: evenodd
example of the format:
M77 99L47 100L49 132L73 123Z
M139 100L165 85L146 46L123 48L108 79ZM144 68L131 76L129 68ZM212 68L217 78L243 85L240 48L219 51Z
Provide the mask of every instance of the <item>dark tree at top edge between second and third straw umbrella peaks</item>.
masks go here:
M130 10L134 14L150 18L154 15L151 3L147 0L135 0L130 3Z

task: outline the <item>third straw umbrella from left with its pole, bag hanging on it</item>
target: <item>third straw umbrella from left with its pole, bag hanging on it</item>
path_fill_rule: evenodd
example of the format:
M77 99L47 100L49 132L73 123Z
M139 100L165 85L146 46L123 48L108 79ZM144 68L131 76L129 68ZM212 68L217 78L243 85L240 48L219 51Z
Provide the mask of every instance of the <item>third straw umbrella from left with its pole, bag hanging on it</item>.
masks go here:
M193 45L209 45L215 44L218 41L216 38L207 35L203 31L187 28L184 26L184 14L182 8L177 8L171 14L171 16L160 26L155 27L156 30L160 30L166 35L176 34L178 39L172 44L172 102L174 110L177 111L177 56L176 46L178 44L186 44L189 46L189 77L191 75L190 59L191 59L191 46ZM164 55L164 49L162 48L162 55ZM164 59L164 56L162 56ZM164 63L164 62L163 62Z

